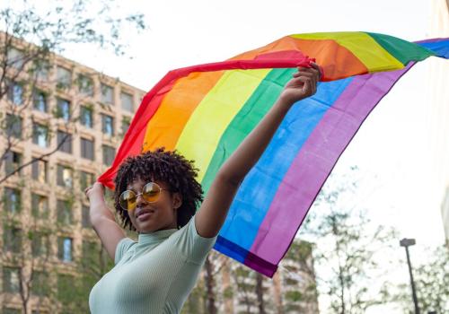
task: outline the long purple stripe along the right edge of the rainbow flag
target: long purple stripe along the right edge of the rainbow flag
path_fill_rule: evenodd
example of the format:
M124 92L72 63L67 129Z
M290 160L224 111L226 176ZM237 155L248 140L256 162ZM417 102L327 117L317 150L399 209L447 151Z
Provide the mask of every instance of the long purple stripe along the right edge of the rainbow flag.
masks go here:
M260 224L253 254L275 265L284 257L341 153L375 105L413 64L398 71L357 76L342 92L286 172Z

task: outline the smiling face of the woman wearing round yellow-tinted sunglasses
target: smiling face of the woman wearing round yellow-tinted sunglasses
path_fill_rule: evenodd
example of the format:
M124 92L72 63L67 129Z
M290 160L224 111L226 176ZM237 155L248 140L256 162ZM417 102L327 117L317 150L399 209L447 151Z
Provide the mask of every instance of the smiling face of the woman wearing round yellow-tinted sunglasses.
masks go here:
M170 187L165 182L154 182L163 189L159 198L154 203L149 203L145 201L142 195L139 195L136 200L136 208L128 212L129 219L136 231L141 233L177 228L176 213L181 205L180 195L179 193L171 193L168 190ZM137 179L128 185L128 189L139 194L146 183L148 182Z

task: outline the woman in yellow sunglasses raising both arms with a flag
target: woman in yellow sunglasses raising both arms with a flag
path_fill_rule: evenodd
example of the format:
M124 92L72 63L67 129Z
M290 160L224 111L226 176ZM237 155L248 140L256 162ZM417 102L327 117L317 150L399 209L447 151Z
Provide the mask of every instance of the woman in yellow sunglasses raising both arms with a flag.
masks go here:
M178 153L155 152L128 158L115 179L115 210L126 237L107 208L101 183L86 188L90 217L115 266L92 288L92 313L179 313L195 286L207 253L216 242L233 197L260 159L293 104L316 92L318 65L298 67L275 105L217 172L206 198L197 170ZM300 104L299 104L300 105Z

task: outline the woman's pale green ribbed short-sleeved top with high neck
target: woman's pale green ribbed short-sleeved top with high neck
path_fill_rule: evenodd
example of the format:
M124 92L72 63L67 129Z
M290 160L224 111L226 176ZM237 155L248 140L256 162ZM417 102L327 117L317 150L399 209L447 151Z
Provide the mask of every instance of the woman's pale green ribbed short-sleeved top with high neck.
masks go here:
M89 295L92 314L179 313L216 238L201 237L193 216L180 230L120 240L115 266Z

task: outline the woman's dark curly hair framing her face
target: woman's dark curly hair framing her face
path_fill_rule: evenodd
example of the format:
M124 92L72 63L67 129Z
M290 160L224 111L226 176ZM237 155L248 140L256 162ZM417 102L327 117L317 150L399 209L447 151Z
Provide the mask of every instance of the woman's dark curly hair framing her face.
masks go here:
M114 180L115 194L114 207L119 213L124 228L136 231L129 219L128 212L119 205L121 193L128 189L128 185L141 179L144 182L150 180L163 181L168 184L171 194L178 192L182 197L182 205L178 208L178 229L189 222L195 214L197 206L203 201L203 190L197 181L198 169L193 161L188 161L180 153L165 151L157 148L152 152L142 153L128 157L119 167Z

